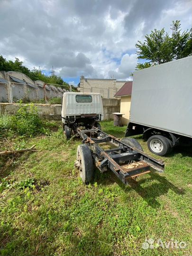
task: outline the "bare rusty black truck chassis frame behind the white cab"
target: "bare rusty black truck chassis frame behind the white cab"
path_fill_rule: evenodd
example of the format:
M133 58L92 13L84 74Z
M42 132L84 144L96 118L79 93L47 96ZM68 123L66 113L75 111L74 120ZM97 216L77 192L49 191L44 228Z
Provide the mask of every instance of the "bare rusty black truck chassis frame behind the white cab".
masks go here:
M87 130L76 128L76 134L82 138L82 143L89 147L92 160L101 173L110 169L124 184L128 184L130 179L136 179L151 171L164 172L165 165L162 161L156 160L135 147L128 146L98 128ZM100 143L106 142L112 143L114 148L104 150L99 146ZM75 166L80 167L78 157Z

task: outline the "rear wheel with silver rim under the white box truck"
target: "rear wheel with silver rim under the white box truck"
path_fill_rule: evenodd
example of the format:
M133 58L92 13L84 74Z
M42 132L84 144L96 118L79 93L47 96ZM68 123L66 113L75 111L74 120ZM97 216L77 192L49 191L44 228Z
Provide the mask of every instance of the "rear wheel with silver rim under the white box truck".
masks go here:
M166 155L171 152L170 139L162 135L154 135L148 138L148 149L156 155Z

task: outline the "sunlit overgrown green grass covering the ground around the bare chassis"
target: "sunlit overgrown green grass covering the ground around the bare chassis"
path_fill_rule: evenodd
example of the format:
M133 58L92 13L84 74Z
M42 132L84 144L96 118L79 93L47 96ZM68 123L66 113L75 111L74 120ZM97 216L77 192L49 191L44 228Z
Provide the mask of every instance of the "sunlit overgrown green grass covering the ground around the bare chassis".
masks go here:
M112 121L101 125L111 135L124 136L126 127L113 127ZM146 143L137 139L151 155ZM1 255L191 254L191 151L177 148L161 157L165 173L141 176L135 187L97 169L93 182L84 185L74 168L80 139L67 141L59 127L27 143L37 144L38 151L0 157ZM144 250L147 238L174 238L187 247Z

